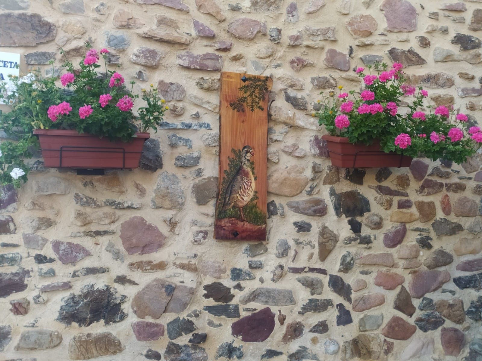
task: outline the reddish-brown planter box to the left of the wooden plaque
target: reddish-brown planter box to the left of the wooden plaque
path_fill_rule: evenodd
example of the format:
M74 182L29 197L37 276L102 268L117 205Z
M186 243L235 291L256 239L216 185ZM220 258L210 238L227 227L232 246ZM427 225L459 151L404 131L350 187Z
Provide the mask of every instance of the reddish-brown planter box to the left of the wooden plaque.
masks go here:
M35 129L45 167L73 169L134 169L139 166L149 133L136 133L131 142L79 134L77 130Z

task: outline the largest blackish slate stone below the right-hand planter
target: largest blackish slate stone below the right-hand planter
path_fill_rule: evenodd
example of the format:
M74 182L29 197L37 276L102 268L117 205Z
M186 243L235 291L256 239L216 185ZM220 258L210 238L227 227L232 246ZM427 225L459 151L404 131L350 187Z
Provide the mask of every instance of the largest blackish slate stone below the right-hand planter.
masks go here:
M366 212L370 212L370 202L368 198L356 190L336 193L335 188L329 191L330 200L335 210L336 217L361 217Z

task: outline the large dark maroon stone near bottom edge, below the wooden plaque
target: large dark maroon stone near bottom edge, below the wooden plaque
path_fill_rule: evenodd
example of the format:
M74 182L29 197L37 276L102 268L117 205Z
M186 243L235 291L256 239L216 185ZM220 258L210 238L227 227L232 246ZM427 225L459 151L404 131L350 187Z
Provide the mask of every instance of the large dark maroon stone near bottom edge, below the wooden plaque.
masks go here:
M263 342L274 330L274 312L269 307L243 317L231 325L231 334L244 342Z

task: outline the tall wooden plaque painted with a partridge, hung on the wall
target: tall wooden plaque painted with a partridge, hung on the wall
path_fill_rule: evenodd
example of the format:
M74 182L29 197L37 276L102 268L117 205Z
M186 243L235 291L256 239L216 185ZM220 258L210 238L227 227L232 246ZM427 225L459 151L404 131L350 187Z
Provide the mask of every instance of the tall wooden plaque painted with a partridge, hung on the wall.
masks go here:
M266 240L269 77L222 72L215 239Z

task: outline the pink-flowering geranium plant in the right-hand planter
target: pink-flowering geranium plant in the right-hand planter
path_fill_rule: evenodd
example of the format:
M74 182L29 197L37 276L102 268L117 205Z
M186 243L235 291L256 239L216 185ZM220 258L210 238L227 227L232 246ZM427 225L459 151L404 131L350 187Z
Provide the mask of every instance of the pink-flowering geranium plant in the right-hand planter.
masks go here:
M395 63L388 70L387 64L375 63L373 68L376 75L371 74L371 65L369 74L362 67L356 69L364 83L361 92L342 92L340 86L337 96L330 91L319 101L320 110L313 116L330 135L348 137L351 143L371 144L378 140L386 153L424 155L456 163L466 161L479 148L482 131L470 126L465 114L455 114L443 105L433 113L430 105L428 112L422 111L428 92L406 84L402 64ZM411 103L402 101L402 97L410 96L415 98ZM405 114L399 112L401 106L408 107Z

